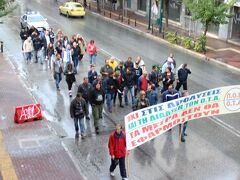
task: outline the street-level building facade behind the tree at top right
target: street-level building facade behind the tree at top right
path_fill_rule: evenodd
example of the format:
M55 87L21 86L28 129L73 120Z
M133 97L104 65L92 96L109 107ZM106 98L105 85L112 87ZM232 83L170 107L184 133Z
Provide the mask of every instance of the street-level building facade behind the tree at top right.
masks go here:
M125 8L134 11L137 14L148 17L149 8L152 12L156 7L159 12L159 1L152 0L125 0ZM227 2L228 0L222 0ZM177 27L181 27L189 32L189 35L198 36L201 34L201 23L193 21L187 8L182 3L182 0L169 0L169 23ZM156 7L153 7L156 6ZM231 12L234 14L233 18L227 19L227 24L220 24L218 26L211 25L209 27L209 36L213 36L222 40L233 41L240 43L240 0L235 3ZM153 19L159 17L159 13L152 13Z

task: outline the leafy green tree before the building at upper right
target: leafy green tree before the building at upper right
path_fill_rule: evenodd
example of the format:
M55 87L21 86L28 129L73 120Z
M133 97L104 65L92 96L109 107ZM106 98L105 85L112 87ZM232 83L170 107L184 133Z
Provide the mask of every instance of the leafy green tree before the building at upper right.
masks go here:
M199 20L204 28L203 35L206 36L209 25L226 24L226 18L232 17L229 13L236 0L222 3L220 0L183 0L189 9L192 18Z

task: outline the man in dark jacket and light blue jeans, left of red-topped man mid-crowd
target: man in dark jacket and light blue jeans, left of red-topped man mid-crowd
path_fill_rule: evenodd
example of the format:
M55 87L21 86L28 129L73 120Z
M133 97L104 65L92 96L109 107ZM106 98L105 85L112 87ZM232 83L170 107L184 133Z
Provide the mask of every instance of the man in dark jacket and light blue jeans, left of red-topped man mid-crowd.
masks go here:
M124 80L124 100L125 105L128 106L128 91L130 91L132 97L132 106L134 105L134 86L135 75L132 73L131 68L127 68L127 72L123 75Z

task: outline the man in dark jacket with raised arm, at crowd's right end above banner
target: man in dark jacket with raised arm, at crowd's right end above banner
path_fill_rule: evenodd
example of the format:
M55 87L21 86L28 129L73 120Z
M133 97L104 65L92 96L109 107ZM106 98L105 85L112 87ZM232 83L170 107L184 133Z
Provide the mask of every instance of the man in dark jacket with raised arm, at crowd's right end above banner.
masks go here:
M181 86L183 86L183 90L187 90L188 74L191 74L191 70L187 68L187 64L185 63L178 70L178 79L177 79L177 86L176 86L177 91L179 91Z

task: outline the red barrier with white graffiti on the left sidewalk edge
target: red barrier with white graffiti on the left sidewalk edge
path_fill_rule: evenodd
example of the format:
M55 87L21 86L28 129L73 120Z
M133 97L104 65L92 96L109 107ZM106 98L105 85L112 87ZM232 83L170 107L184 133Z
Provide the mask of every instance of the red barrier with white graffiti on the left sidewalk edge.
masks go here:
M41 120L42 111L40 104L28 104L18 106L15 109L14 121L16 123L24 123L25 121Z

